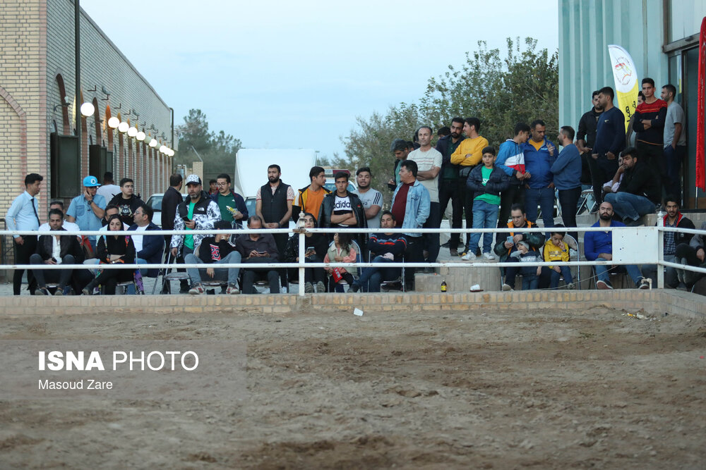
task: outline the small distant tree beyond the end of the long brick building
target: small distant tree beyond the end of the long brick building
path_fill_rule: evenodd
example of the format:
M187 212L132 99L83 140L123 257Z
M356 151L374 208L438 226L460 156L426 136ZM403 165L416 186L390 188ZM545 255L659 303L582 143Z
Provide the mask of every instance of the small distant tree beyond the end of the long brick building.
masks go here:
M179 133L179 152L174 157L174 164L191 165L198 161L196 152L203 159L203 178L210 180L219 173L232 173L235 168L235 155L242 143L224 131L210 132L208 118L201 109L190 109L184 116L184 124L177 127ZM193 147L193 149L192 149Z

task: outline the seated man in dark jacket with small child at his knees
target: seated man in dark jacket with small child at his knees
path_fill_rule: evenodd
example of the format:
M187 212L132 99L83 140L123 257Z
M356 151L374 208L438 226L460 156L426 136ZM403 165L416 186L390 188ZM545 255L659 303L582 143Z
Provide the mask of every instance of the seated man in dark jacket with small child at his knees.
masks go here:
M510 232L498 233L498 243L496 243L493 251L500 256L501 263L516 262L515 259L510 259L510 256L517 252L520 247L520 242L527 242L527 251L537 250L544 245L544 235L539 232L518 233L523 228L536 228L537 225L527 220L525 211L520 204L513 204L510 208L511 222L508 222ZM508 266L505 268L505 282L503 282L503 290L515 290L515 276L520 272L517 266Z

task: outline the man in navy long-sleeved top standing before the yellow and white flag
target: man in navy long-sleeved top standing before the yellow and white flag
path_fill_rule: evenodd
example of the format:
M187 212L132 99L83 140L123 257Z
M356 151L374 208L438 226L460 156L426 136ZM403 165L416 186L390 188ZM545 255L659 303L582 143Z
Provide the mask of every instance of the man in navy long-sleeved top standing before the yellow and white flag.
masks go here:
M613 106L615 92L603 87L598 92L598 101L603 113L596 126L596 142L591 154L591 178L596 202L603 197L603 183L613 179L618 171L618 155L625 148L625 115ZM612 211L612 209L611 209Z

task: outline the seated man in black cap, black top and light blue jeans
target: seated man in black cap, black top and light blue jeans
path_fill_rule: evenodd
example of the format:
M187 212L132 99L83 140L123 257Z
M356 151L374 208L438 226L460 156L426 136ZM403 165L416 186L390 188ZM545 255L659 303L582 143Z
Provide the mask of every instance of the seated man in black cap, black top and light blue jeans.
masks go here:
M138 209L139 211L139 209ZM138 212L135 213L137 218ZM229 230L232 228L232 222L217 221L213 224L215 230ZM231 242L229 242L229 233L216 233L213 237L205 237L201 240L201 244L196 247L193 253L189 253L184 257L186 264L237 264L241 261L240 253ZM210 279L228 280L228 287L225 291L228 295L239 294L238 273L240 268L186 268L191 278L191 295L203 294L203 280Z

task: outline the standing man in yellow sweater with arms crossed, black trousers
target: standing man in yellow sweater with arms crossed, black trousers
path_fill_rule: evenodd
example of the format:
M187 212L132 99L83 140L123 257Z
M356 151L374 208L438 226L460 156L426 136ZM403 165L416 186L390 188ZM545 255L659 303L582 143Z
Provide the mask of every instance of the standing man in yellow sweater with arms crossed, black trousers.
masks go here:
M466 181L474 166L480 163L481 157L483 156L483 149L488 147L488 140L479 135L478 132L480 131L481 121L479 118L466 118L463 122L463 133L466 135L466 138L461 141L461 144L455 149L453 154L451 154L450 159L451 164L459 166L458 183L463 192L463 210L466 214L466 228L472 228L473 226L474 198L474 194L468 189ZM469 245L470 240L471 234L467 233L465 246ZM480 249L477 254L480 254ZM464 250L461 256L465 255L466 252Z

